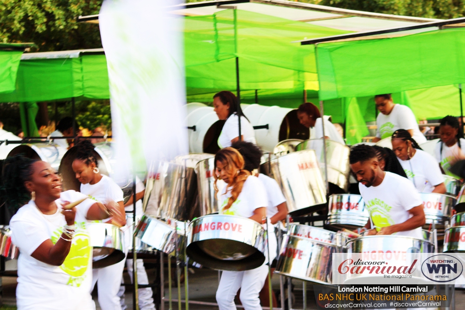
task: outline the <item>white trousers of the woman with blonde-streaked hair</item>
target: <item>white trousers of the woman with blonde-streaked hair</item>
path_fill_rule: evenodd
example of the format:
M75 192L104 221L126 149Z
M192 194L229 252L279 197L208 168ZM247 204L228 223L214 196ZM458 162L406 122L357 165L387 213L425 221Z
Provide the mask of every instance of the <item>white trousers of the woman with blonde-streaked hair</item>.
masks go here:
M234 297L239 288L239 298L245 310L262 310L259 293L268 276L268 266L247 271L223 271L217 290L219 310L236 310Z

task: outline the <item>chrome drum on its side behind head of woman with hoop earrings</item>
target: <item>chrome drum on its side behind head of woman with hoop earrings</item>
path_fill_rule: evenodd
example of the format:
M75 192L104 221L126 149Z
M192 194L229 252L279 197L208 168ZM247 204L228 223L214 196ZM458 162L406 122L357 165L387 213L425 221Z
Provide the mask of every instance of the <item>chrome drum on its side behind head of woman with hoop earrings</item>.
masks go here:
M100 173L108 175L110 178L113 179L113 181L115 181L116 184L118 184L118 186L120 186L120 188L123 190L124 202L127 202L133 193L132 177L124 177L121 179L115 178L114 170L115 166L117 165L117 162L114 156L114 150L110 142L95 143L94 146L95 157L97 159L98 169L100 170ZM66 154L64 154L61 158L60 168L58 169L58 172L60 172L62 176L63 190L80 190L81 184L76 179L76 175L72 167L76 155L77 148L76 146L74 146L70 148L66 152Z

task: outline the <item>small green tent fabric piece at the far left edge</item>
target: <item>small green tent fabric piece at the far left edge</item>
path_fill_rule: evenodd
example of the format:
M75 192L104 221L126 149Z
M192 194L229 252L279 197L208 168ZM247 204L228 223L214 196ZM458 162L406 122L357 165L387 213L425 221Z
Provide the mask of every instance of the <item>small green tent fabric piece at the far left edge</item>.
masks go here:
M15 90L16 74L22 51L0 50L0 93Z

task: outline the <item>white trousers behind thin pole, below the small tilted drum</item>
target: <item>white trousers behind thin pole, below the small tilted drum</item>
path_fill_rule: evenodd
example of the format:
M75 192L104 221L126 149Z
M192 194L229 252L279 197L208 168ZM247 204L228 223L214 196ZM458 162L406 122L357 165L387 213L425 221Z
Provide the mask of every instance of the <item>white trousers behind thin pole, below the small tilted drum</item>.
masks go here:
M131 277L131 283L134 283L133 278L133 268L132 268L132 259L126 260L126 268L129 277ZM144 261L137 260L137 282L139 284L149 284L149 278L147 277L147 272L145 271ZM124 281L122 281L124 283ZM121 298L121 309L126 310L127 306L124 300L124 285L121 286L118 296ZM140 310L155 310L154 298L152 288L147 287L139 289L139 309Z

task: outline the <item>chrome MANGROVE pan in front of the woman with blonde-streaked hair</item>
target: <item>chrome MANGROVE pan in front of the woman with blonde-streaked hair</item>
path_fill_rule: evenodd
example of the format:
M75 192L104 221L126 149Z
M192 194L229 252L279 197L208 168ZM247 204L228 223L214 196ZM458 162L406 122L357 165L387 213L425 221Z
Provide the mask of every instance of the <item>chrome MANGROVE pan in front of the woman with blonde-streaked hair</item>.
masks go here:
M265 261L263 232L259 223L245 217L199 217L189 224L187 256L212 269L254 269Z

